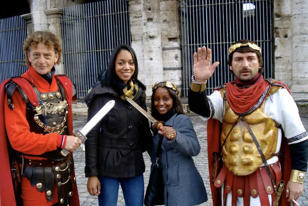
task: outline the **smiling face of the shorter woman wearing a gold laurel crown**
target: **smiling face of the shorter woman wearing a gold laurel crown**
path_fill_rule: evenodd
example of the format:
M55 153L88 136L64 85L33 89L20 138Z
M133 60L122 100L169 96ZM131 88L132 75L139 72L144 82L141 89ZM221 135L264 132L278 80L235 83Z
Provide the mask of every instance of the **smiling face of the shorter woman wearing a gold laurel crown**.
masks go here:
M166 114L173 106L172 97L165 87L158 87L154 93L154 107L163 115Z

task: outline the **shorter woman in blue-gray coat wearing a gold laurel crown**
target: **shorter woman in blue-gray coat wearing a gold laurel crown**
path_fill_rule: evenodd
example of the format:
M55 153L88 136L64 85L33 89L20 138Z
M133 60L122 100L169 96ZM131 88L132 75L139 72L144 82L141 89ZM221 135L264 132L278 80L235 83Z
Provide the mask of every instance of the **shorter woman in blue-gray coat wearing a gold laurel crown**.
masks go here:
M152 116L165 125L153 130L151 161L156 160L156 150L163 138L159 161L163 168L164 203L168 206L191 206L207 201L201 175L192 156L200 152L193 124L184 115L178 89L171 82L159 82L152 87ZM155 125L152 125L155 128Z

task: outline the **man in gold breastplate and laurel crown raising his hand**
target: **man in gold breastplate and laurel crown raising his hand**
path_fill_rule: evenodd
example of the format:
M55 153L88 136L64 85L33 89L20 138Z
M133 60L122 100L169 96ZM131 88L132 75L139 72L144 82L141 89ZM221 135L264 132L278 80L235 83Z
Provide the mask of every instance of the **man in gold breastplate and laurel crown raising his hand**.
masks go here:
M208 119L213 204L290 205L303 192L308 133L288 87L263 79L261 48L240 40L229 48L235 81L207 96L218 64L211 65L210 49L198 48L188 94L190 109Z

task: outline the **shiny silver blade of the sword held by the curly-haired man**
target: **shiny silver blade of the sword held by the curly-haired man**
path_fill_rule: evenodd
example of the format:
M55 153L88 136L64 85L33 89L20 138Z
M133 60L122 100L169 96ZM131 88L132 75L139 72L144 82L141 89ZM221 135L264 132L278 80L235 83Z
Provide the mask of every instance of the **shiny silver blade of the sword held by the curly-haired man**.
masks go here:
M115 100L108 101L93 117L90 121L87 122L86 125L80 130L84 136L86 136L91 129L112 109L115 105Z

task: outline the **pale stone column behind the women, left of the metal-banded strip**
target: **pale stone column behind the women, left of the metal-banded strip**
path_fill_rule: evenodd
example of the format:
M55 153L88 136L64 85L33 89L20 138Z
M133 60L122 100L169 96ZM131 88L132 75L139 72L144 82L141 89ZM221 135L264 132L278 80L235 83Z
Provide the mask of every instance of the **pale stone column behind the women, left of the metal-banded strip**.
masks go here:
M139 65L138 79L147 86L146 93L149 96L152 94L152 84L163 79L160 1L128 1L132 48L136 52Z

